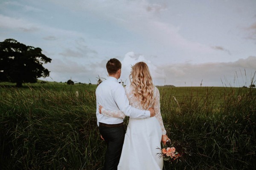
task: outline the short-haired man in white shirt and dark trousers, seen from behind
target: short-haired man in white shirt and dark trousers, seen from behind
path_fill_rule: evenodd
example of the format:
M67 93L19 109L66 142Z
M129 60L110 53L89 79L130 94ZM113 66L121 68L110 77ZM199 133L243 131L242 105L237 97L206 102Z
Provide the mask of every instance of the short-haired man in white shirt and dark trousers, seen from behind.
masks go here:
M106 64L108 79L96 89L96 116L99 132L107 143L105 155L105 170L116 170L122 152L125 129L122 118L107 117L99 113L99 105L106 110L121 110L131 118L149 118L155 115L154 109L140 110L129 105L125 89L118 83L122 64L116 58L111 58Z

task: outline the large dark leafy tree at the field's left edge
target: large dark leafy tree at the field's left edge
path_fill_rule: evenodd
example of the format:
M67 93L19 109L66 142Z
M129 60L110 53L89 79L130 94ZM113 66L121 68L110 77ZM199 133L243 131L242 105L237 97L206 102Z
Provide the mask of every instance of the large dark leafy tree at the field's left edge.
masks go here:
M44 63L52 59L43 55L40 48L26 46L14 39L0 42L0 81L16 83L35 83L37 78L49 76Z

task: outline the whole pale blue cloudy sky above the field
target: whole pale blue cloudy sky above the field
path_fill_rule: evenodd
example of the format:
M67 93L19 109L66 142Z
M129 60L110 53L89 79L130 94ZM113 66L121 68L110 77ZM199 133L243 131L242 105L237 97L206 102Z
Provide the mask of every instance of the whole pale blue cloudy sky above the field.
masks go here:
M96 84L117 58L125 84L139 61L158 86L255 84L256 0L0 0L9 38L52 59L41 80Z

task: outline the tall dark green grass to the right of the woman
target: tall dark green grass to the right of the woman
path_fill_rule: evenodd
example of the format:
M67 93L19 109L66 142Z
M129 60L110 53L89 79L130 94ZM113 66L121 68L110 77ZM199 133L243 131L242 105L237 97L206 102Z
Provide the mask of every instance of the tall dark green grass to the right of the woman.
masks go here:
M256 89L224 88L220 98L213 87L205 88L204 95L197 89L183 93L178 104L162 89L169 137L187 142L193 152L186 162L165 162L165 169L256 169Z

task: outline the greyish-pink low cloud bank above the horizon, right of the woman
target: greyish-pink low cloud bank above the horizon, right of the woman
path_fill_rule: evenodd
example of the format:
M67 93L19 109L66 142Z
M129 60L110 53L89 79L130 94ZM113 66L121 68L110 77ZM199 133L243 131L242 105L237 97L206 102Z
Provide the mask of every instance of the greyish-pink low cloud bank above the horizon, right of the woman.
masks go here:
M165 77L154 77L161 85L199 86L203 80L203 86L220 86L221 80L224 80L226 85L244 86L250 84L256 71L256 57L227 63L172 63L157 66L157 69Z

